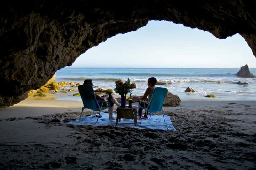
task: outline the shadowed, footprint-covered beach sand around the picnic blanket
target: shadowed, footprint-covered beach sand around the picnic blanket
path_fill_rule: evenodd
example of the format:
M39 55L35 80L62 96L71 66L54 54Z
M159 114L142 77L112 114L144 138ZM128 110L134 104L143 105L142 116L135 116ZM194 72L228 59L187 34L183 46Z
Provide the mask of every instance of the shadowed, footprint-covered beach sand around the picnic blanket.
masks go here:
M163 107L176 132L66 125L81 107L27 99L0 109L0 169L256 169L255 101Z

